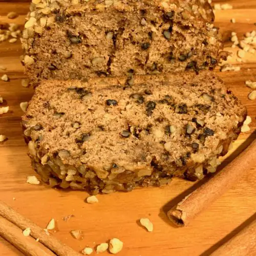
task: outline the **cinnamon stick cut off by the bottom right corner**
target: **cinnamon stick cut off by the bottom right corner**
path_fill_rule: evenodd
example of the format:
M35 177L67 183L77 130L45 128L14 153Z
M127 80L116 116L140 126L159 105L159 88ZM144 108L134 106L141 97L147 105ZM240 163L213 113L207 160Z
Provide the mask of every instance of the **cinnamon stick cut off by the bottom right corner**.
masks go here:
M256 255L256 220L211 254L211 256L231 255Z

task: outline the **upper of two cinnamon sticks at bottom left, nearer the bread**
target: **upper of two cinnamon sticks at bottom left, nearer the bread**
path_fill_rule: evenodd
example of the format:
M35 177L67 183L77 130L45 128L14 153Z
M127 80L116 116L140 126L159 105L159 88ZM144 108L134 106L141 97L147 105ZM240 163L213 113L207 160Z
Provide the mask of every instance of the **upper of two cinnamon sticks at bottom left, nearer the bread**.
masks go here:
M18 212L13 210L10 206L5 204L3 201L0 201L0 215L7 219L8 221L15 224L20 229L24 230L27 227L31 228L30 236L39 239L40 243L44 244L51 251L55 252L59 256L79 256L78 252L74 251L72 248L63 244L55 237L48 236L44 229L38 227L29 219L20 215Z

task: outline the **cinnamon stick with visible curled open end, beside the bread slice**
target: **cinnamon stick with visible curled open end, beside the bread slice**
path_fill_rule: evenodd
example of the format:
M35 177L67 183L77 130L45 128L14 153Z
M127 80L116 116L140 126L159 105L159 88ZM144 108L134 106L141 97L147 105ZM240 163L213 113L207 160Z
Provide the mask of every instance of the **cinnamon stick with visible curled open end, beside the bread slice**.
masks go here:
M256 164L256 140L254 140L236 159L217 175L185 197L167 212L170 221L177 226L186 226L196 215L220 197L240 177Z

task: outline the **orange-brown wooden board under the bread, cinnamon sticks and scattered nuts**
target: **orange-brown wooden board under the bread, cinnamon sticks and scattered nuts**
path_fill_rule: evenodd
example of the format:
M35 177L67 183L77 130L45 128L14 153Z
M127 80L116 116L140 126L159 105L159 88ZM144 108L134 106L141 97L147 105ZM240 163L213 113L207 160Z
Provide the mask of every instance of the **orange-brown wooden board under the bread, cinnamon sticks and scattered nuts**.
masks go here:
M230 48L231 31L236 31L238 37L242 38L245 32L256 30L256 2L233 0L223 3L231 4L233 9L217 11L216 25L221 27L225 46L236 54L237 49ZM10 11L16 11L19 17L13 22L22 26L28 7L28 1L0 0L0 24L12 22L6 15ZM235 24L230 23L231 18L236 19ZM124 243L120 256L209 255L256 218L256 166L251 167L236 185L184 228L170 225L165 212L202 182L174 179L170 185L161 188L141 188L127 194L98 195L99 203L93 205L84 202L88 196L84 191L68 192L52 189L44 184L26 183L27 176L34 175L34 172L20 129L20 116L23 113L19 103L29 101L33 90L21 86L21 79L25 78L19 62L21 54L19 42L0 43L0 65L7 68L7 71L0 71L0 76L6 73L10 77L10 82L0 80L0 95L10 106L10 111L0 116L0 134L8 137L7 141L0 142L0 200L20 214L44 228L51 218L55 218L58 231L54 236L77 251L86 245L94 247L111 238L119 238ZM256 125L256 100L247 98L250 89L245 86L245 81L256 81L256 54L248 53L245 59L245 63L238 63L236 57L233 57L233 63L241 67L240 72L220 73L231 90L247 106L248 115L252 118L251 131L239 136L222 166L255 138L255 133L252 132ZM62 217L70 214L75 217L68 222L62 220ZM151 219L154 224L153 232L147 232L137 224L143 217ZM78 241L72 238L72 229L81 229L84 239ZM2 238L0 254L23 255ZM92 255L94 254L96 252ZM107 254L108 252L102 253Z

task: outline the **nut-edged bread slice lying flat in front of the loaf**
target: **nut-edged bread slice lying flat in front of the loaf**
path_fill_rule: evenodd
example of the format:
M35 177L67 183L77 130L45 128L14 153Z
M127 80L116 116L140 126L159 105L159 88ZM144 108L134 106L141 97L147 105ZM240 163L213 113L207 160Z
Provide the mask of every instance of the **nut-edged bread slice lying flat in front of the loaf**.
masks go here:
M210 71L43 81L23 116L36 172L51 186L130 191L215 172L246 109Z

